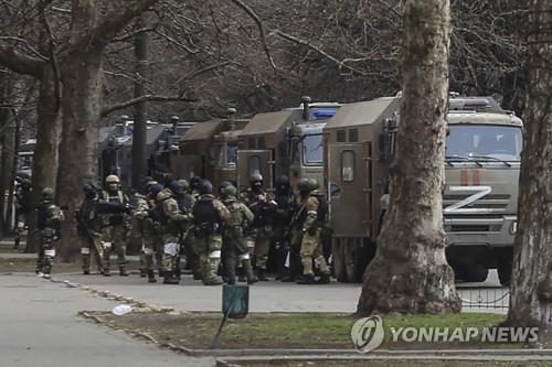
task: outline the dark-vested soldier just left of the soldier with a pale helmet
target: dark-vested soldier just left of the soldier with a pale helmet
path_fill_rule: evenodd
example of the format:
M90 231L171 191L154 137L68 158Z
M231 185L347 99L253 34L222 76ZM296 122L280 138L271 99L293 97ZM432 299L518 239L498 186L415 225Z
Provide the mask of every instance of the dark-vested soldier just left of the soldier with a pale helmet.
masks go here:
M94 184L86 183L83 186L83 191L84 199L75 213L75 217L77 233L84 240L81 255L83 259L83 273L87 276L91 273L92 253L94 253L98 273L102 273L104 247L100 241L102 223L96 209L98 202L97 188Z

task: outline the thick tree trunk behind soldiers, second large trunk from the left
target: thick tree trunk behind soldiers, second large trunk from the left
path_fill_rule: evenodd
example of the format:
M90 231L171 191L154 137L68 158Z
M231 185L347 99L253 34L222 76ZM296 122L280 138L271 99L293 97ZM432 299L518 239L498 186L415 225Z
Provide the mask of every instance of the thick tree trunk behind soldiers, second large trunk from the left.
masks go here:
M62 261L81 248L73 213L83 198L83 184L96 182L99 111L102 110L102 50L75 52L61 66L63 132L60 144L57 202L64 209Z

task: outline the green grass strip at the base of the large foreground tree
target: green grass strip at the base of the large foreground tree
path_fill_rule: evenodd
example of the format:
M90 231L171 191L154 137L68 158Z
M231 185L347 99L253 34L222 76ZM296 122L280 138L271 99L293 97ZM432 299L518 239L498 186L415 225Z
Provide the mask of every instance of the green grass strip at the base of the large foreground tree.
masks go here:
M134 312L124 316L94 313L112 326L128 332L141 332L161 343L189 348L210 348L222 320L221 314L166 314ZM412 315L383 317L385 341L381 348L521 348L523 344L497 343L393 343L389 327L478 327L498 325L503 315L460 313L454 315ZM353 349L350 338L355 319L348 314L300 313L250 314L246 319L229 320L220 338L221 348L339 348Z

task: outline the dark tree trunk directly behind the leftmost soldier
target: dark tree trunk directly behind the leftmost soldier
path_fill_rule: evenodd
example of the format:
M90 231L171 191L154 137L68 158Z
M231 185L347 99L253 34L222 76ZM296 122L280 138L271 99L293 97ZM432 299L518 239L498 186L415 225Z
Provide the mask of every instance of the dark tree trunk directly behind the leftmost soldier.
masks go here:
M59 100L55 91L55 76L50 65L44 66L40 80L39 100L36 106L36 147L33 154L33 180L31 215L28 218L29 236L25 252L36 252L39 236L35 230L35 217L32 215L40 194L45 187L55 190L57 180L57 163L62 120Z

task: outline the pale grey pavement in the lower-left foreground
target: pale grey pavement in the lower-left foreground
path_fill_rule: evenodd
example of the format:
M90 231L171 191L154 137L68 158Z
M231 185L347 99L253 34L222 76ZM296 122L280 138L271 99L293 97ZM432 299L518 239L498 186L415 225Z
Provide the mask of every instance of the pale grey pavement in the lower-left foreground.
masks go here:
M0 276L0 366L2 367L185 367L213 366L123 332L92 324L76 313L110 310L116 303L31 274Z

